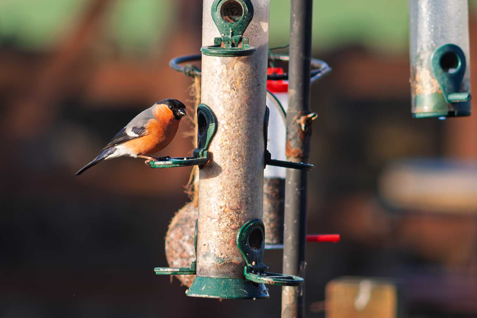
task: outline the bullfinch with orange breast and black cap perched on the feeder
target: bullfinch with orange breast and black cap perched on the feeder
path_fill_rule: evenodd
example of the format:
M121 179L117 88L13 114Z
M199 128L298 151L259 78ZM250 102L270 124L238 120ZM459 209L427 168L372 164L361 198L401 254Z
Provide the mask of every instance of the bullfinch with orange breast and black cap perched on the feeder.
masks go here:
M100 154L86 164L75 175L82 174L103 160L117 157L134 157L151 161L168 160L170 157L153 157L174 139L179 122L186 115L186 106L172 98L160 100L139 113L113 139L104 146Z

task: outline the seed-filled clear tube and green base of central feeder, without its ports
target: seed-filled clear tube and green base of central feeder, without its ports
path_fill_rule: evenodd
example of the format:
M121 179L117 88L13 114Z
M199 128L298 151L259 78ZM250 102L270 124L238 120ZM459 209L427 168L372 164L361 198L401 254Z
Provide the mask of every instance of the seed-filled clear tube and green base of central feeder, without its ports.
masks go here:
M204 46L221 36L210 13L213 2L203 2ZM245 280L246 263L237 248L237 233L247 221L261 218L263 204L270 1L252 2L253 20L244 37L256 51L238 57L202 55L201 103L215 113L218 129L208 148L211 160L200 169L197 277L188 296L268 297L264 290L257 296L239 293L240 284L252 289L257 284ZM200 129L201 119L198 121Z

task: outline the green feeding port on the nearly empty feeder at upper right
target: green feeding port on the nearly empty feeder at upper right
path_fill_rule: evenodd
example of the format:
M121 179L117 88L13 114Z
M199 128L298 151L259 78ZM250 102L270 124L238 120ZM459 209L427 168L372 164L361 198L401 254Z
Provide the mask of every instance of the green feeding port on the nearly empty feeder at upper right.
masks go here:
M431 68L446 103L462 103L471 99L470 93L460 92L466 67L464 51L455 44L445 44L432 54Z

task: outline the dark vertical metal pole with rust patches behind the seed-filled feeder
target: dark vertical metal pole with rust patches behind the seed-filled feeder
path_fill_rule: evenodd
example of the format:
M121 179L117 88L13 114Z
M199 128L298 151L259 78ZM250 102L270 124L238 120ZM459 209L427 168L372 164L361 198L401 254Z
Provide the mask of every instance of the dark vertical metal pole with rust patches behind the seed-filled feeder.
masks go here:
M308 162L310 155L310 62L312 0L291 0L287 110L287 160ZM283 273L305 276L307 172L287 169ZM304 286L282 287L281 317L301 318Z

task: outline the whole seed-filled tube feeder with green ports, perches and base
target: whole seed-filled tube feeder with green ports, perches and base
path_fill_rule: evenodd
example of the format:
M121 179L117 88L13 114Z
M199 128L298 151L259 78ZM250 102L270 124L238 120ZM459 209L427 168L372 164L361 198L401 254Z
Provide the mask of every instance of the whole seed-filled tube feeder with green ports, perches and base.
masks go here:
M264 284L303 283L266 272L262 263L265 165L312 167L273 160L266 149L269 6L269 0L204 0L197 149L192 158L154 166L199 165L196 260L190 267L155 268L158 275L195 274L187 296L267 298Z

